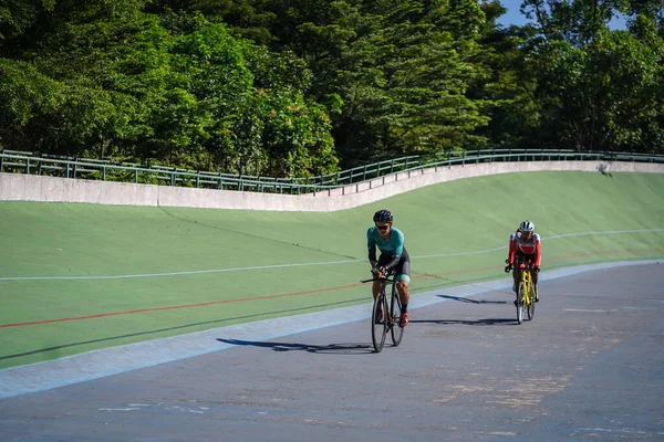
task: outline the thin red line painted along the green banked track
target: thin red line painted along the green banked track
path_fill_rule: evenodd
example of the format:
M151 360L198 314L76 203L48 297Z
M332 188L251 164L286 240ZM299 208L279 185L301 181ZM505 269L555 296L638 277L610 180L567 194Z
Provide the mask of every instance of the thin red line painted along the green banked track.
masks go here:
M631 254L631 253L652 253L652 252L664 252L664 249L624 250L624 251L621 250L621 251L608 251L608 252L575 253L575 254L567 255L567 256L548 257L547 261L557 261L557 260L566 260L566 259L571 259L571 257L583 257L583 256L592 256L592 255L616 255L616 254L621 254L621 253L629 253L629 254ZM490 267L480 267L480 269L468 269L468 270L459 270L459 271L443 272L443 273L425 273L425 274L422 274L422 275L413 276L412 278L416 280L416 278L421 278L421 277L435 277L435 276L442 276L442 275L476 273L476 272L484 272L484 271L487 271L487 270L494 270L494 269L497 269L497 267L500 267L500 266L490 266ZM243 298L237 298L237 299L210 301L208 303L174 305L174 306L167 306L167 307L138 308L138 309L127 311L127 312L100 313L100 314L96 314L96 315L75 316L75 317L69 317L69 318L43 319L43 320L33 320L33 322L28 322L28 323L0 324L0 328L22 327L22 326L29 326L29 325L41 325L41 324L53 324L53 323L64 323L64 322L69 322L69 320L95 319L95 318L108 317L108 316L133 315L135 313L173 311L173 309L177 309L177 308L193 308L193 307L203 307L203 306L206 306L206 305L231 304L231 303L241 303L241 302L247 302L247 301L273 299L273 298L286 297L286 296L311 295L313 293L332 292L332 291L338 291L338 290L343 290L343 288L357 287L360 285L362 285L362 284L357 283L357 284L342 285L342 286L339 286L339 287L317 288L317 290L313 290L313 291L305 291L305 292L282 293L282 294L279 294L279 295L268 295L268 296L258 296L258 297L243 297Z

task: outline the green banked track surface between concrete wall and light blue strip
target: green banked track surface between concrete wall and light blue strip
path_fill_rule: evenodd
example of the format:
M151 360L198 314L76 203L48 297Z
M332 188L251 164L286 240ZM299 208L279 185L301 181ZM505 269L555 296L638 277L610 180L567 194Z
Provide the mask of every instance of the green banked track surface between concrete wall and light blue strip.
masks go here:
M332 213L0 202L0 368L367 303L382 208L406 235L414 296L505 277L523 219L543 271L664 256L664 231L609 233L664 230L664 176L650 173L497 175ZM557 238L587 232L605 233Z

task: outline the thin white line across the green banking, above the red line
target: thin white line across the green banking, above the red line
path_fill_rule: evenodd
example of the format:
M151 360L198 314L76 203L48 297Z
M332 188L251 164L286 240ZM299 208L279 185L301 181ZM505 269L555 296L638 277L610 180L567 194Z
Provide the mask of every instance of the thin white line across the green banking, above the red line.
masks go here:
M649 230L611 230L606 232L581 232L581 233L564 233L552 236L543 236L543 240L557 240L561 238L570 236L584 236L584 235L608 235L608 234L621 234L621 233L652 233L652 232L664 232L664 229L649 229ZM458 252L458 253L440 253L435 255L422 255L411 256L412 260L425 260L429 257L450 257L450 256L469 256L478 255L484 253L497 252L499 250L506 250L507 245L479 250L475 252ZM289 264L273 264L273 265L257 265L251 267L230 267L230 269L210 269L210 270L193 270L186 272L166 272L166 273L139 273L129 275L101 275L101 276L0 276L0 281L40 281L40 280L128 280L134 277L160 277L160 276L180 276L180 275L200 275L206 273L224 273L224 272L245 272L251 270L267 270L267 269L283 269L283 267L307 267L313 265L334 265L334 264L351 264L357 262L364 262L366 260L346 260L346 261L325 261L318 263L289 263Z

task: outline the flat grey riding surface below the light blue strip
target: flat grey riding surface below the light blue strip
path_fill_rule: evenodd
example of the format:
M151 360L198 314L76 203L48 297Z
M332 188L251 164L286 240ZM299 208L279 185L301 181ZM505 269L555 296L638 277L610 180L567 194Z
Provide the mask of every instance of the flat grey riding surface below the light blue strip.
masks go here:
M664 440L664 266L542 281L532 322L492 291L0 399L2 441ZM388 338L390 339L390 338Z

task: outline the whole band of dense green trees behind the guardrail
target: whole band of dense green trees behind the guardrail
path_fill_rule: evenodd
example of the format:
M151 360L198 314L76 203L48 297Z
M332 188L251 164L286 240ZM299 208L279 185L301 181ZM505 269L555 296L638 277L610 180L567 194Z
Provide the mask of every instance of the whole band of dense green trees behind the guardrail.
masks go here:
M498 0L3 0L0 147L273 177L664 152L663 4L523 0L504 29Z

